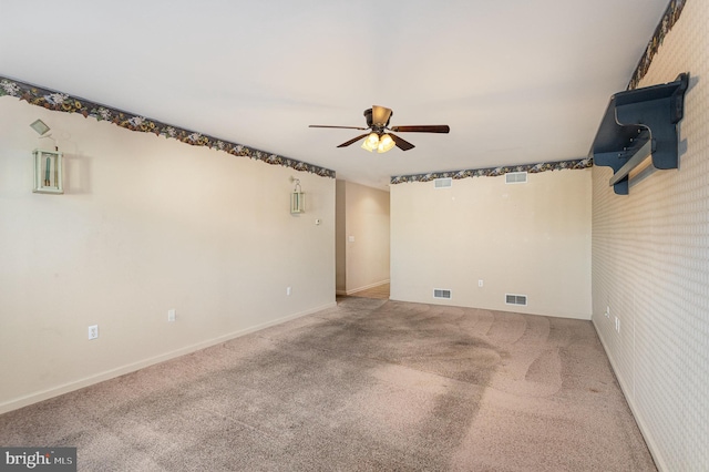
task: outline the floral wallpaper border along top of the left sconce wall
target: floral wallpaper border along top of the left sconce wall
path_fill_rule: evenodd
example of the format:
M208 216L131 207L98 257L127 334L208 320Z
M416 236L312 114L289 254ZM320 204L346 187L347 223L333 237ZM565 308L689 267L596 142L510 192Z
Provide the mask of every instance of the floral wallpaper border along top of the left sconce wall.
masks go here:
M193 146L207 146L224 151L235 156L249 157L256 161L263 161L267 164L282 165L296 171L309 172L322 177L335 178L335 171L329 168L319 167L301 161L279 156L277 154L270 154L243 144L218 140L196 131L184 130L182 127L162 123L157 120L124 112L89 100L71 96L66 93L42 89L0 75L0 96L3 95L14 96L20 100L24 100L32 105L43 106L58 112L80 113L84 117L91 116L99 121L107 121L126 130L143 133L155 133L158 136L173 137Z

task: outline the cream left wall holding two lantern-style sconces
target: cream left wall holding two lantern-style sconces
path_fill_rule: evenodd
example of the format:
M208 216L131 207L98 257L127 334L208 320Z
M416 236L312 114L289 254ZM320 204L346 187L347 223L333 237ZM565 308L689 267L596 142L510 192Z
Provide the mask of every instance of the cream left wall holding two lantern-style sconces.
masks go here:
M0 98L0 412L333 305L333 178Z

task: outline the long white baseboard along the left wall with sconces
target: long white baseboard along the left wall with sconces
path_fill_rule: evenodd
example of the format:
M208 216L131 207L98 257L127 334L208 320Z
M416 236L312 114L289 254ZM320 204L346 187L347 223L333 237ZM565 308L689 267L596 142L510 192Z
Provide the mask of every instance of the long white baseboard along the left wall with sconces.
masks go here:
M236 339L242 336L250 335L251 332L260 331L261 329L270 328L271 326L281 325L286 321L290 321L296 318L300 318L307 315L312 315L315 312L336 307L337 302L332 301L316 308L311 308L305 311L299 311L292 315L285 316L282 318L275 319L273 321L267 321L260 325L253 326L250 328L240 329L238 331L230 332L228 335L223 335L217 338L208 339L206 341L196 342L194 345L185 346L179 349L175 349L169 352L165 352L148 359L144 359L137 362L129 363L122 367L117 367L115 369L106 370L104 372L100 372L95 376L85 377L83 379L66 382L58 387L53 387L47 390L42 390L35 393L30 393L20 398L12 399L10 401L0 403L0 414L7 413L12 410L19 410L20 408L28 407L33 403L38 403L40 401L49 400L54 397L59 397L64 393L72 392L74 390L83 389L85 387L93 386L95 383L101 383L106 380L114 379L116 377L125 376L126 373L135 372L141 369L145 369L146 367L154 366L156 363L165 362L171 359L178 358L181 356L185 356L188 353L193 353L199 351L202 349L209 348L212 346L219 345L222 342L229 341L232 339Z

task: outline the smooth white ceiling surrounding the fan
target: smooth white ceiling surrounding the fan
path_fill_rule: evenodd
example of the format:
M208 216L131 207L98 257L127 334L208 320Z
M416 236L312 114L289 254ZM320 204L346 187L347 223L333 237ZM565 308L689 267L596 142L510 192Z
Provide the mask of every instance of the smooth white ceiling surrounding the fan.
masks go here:
M668 0L0 0L0 75L387 188L585 157ZM371 105L417 147L353 144Z

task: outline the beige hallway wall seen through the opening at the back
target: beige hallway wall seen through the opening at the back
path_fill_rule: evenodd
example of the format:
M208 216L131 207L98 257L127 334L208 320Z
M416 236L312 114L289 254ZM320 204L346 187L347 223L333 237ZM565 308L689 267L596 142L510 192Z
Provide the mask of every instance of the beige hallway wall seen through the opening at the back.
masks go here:
M351 294L389 281L389 193L337 182L337 291Z

